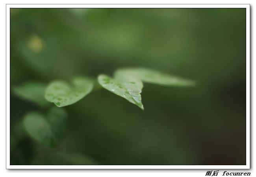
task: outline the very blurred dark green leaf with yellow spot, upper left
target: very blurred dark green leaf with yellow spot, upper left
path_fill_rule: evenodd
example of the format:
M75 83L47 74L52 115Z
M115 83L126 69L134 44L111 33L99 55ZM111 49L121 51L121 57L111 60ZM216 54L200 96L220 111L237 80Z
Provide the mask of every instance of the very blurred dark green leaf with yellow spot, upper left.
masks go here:
M52 39L33 34L27 41L20 41L18 49L30 69L42 76L49 74L56 59L56 47Z

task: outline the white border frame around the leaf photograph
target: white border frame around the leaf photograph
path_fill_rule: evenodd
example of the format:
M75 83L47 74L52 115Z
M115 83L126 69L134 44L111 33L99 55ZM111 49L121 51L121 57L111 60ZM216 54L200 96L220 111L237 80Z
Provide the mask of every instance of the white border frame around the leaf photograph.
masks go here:
M246 8L246 165L9 165L10 8ZM249 169L250 168L250 4L6 4L6 169Z

